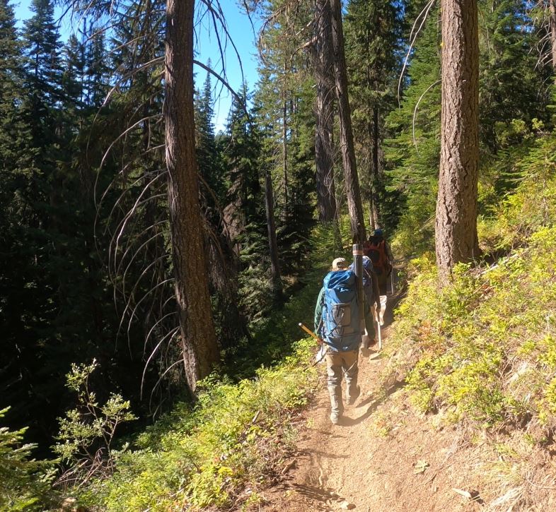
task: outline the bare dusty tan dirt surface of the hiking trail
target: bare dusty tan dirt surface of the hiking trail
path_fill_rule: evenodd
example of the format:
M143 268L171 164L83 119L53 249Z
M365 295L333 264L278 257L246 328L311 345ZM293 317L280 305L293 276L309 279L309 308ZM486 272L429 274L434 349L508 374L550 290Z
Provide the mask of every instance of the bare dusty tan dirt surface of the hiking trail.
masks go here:
M389 306L386 326L392 319ZM388 327L383 335L386 344ZM402 383L393 386L386 399L376 398L376 375L385 364L377 355L374 350L361 355L361 396L346 408L341 425L330 423L323 371L320 391L299 429L296 454L285 465L281 481L262 493L265 504L258 510L484 510L473 487L477 458L461 450L463 436L453 429L432 431L426 419L410 414L397 399ZM469 492L475 500L458 491Z

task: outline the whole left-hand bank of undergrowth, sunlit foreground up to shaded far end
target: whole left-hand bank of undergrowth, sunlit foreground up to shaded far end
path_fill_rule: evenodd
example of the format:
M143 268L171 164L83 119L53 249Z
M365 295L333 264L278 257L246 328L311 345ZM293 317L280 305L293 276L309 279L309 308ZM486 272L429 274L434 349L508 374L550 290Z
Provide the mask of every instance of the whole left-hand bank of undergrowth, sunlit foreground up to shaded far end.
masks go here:
M252 340L226 352L227 362L199 383L195 405L177 404L118 454L112 476L74 489L81 504L168 511L256 503L257 487L289 453L291 418L317 382L314 340L294 340L299 321L313 322L330 262L349 256L340 242L346 226L315 228L307 242L312 266L299 278L301 290L259 318Z

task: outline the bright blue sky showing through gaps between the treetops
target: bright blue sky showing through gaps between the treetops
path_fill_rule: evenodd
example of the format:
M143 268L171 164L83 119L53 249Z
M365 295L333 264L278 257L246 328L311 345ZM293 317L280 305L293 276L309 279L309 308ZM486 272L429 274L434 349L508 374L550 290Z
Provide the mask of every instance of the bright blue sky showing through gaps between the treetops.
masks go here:
M18 25L22 25L22 21L32 16L33 13L29 11L28 6L30 5L30 0L20 0L13 1L14 11L16 14L16 19L18 20ZM257 81L257 59L256 59L256 48L255 41L256 35L253 34L253 28L251 27L250 20L245 13L241 11L236 3L236 0L221 0L220 2L222 11L224 12L224 18L226 19L226 25L233 43L238 49L238 54L241 58L241 65L243 66L243 76L245 81L248 83L248 87L252 90ZM202 6L200 2L197 5ZM56 10L57 16L61 11L59 8ZM68 16L69 18L69 16ZM256 20L254 20L256 22ZM216 73L222 73L222 61L220 57L218 39L216 37L216 32L214 27L212 27L212 20L208 15L203 16L201 19L196 20L195 34L196 34L196 56L198 61L207 64L207 61L211 59L212 69ZM255 26L257 30L258 25ZM68 20L62 20L60 25L62 38L65 39L67 34L71 31L71 26ZM222 44L224 46L225 35L222 31L219 31L221 35ZM231 44L227 44L224 52L224 66L226 68L226 78L228 83L234 90L238 90L241 87L241 67L239 65L238 56L233 50ZM207 76L204 69L196 68L197 73L197 83L202 85ZM224 128L226 123L226 118L228 117L228 112L231 106L231 94L226 88L222 88L216 84L216 80L212 78L212 85L214 89L215 102L214 102L214 125L216 131Z

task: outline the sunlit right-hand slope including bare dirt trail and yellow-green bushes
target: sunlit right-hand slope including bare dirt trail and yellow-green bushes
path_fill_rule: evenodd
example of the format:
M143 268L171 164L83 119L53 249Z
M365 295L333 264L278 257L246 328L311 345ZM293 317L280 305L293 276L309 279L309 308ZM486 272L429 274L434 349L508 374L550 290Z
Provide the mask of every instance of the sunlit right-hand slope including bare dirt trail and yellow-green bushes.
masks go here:
M324 376L266 511L556 508L556 229L436 288L415 261L362 398L328 420Z

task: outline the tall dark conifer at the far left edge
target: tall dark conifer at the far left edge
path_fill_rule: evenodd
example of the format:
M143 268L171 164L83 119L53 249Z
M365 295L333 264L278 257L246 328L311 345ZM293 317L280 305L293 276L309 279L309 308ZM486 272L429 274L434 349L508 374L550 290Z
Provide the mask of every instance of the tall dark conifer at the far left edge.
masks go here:
M21 42L8 0L0 1L0 323L3 361L0 393L4 405L12 405L11 424L30 425L37 435L37 422L28 422L29 410L37 405L33 388L34 339L37 317L45 290L38 287L36 238L30 226L37 225L33 208L33 169L30 127L19 107L25 98Z

